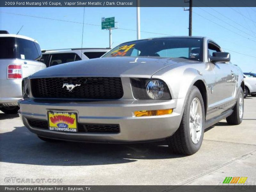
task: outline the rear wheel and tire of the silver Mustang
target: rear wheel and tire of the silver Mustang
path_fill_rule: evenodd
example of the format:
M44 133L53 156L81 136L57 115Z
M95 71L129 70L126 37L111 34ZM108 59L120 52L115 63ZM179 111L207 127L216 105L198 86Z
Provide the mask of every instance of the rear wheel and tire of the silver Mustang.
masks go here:
M226 118L226 121L231 125L239 125L242 123L244 116L244 97L243 89L241 87L239 88L238 98L233 110L233 113Z

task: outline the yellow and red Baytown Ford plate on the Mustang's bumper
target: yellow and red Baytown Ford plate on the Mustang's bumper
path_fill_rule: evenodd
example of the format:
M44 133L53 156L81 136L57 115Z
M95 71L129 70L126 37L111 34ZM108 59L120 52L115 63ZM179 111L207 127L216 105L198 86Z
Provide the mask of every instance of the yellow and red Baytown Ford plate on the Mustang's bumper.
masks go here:
M49 130L77 132L77 115L68 112L48 111Z

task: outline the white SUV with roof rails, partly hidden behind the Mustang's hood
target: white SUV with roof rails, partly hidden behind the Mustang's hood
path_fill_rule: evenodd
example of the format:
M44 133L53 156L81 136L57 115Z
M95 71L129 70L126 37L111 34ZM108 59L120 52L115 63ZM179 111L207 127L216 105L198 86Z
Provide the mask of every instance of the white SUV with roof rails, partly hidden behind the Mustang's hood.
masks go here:
M42 51L43 62L47 67L68 63L72 61L88 60L99 58L108 52L110 48L75 48L75 49L56 49Z

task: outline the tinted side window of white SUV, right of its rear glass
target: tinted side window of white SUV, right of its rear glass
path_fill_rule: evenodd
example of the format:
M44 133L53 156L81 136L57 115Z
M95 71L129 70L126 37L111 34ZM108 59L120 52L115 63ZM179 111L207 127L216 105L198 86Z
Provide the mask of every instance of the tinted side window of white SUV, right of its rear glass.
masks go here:
M17 38L17 46L19 59L38 60L41 57L33 41Z

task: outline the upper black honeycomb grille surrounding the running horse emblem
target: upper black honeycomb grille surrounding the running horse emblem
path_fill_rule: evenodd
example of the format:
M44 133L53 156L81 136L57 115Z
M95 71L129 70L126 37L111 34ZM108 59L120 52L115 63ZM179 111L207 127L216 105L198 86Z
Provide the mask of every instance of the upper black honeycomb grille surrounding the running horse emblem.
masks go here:
M69 86L76 85L71 91ZM71 89L71 88L69 88ZM31 79L35 98L117 100L124 95L120 77L54 77Z

